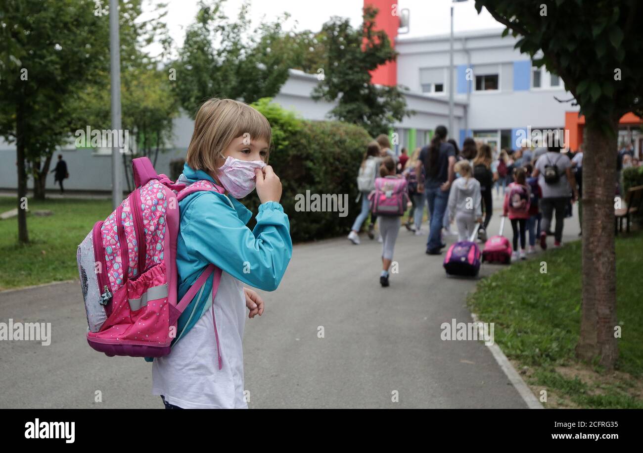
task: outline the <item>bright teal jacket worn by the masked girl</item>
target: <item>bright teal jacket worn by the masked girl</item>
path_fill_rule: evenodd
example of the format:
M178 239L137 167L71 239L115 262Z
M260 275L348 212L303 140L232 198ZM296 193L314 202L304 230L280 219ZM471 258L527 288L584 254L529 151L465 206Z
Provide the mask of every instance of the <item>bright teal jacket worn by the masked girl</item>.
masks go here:
M215 182L204 171L187 163L181 180ZM179 201L181 223L177 237L176 264L179 273L177 302L212 263L236 279L264 291L274 291L284 277L293 255L290 223L284 208L275 201L259 206L254 230L246 227L252 217L244 205L217 192L195 192ZM212 305L210 277L181 314L172 346L181 339ZM151 362L149 358L145 358Z

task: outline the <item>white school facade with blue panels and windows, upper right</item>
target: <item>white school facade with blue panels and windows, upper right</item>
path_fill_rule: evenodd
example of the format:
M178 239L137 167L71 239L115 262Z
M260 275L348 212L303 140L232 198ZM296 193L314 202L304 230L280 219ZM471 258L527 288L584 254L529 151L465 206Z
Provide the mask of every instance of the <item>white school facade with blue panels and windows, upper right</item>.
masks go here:
M516 38L502 37L502 29L455 34L449 83L449 41L449 35L398 38L397 82L447 100L453 84L456 100L467 105L466 125L451 133L459 143L474 136L516 149L528 127L563 129L565 111L578 111L554 99L572 95L545 68L532 68L530 58L514 49Z

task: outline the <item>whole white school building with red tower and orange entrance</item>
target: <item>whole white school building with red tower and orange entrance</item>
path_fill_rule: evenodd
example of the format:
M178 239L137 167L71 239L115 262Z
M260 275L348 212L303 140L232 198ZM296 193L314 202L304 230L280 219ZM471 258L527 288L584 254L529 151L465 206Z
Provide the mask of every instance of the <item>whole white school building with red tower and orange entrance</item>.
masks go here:
M456 33L453 40L453 80L449 80L450 35L405 38L398 35L399 17L392 15L390 0L365 0L376 6L377 27L385 30L399 53L395 62L373 71L376 84L401 84L408 88L404 98L414 111L394 125L394 148L411 151L430 142L433 130L449 124L449 89L454 89L453 131L449 134L460 145L466 136L489 143L496 150L516 149L528 132L561 129L576 150L583 140L584 118L578 115L572 95L559 77L545 68L535 68L532 61L514 49L516 38L502 37L502 26L494 30ZM411 12L411 17L413 13ZM412 20L421 22L421 17ZM449 17L445 17L448 21ZM291 69L274 102L308 120L328 119L333 103L311 98L319 83L318 75ZM559 102L568 101L570 102ZM643 149L641 119L625 115L620 122L619 142L631 141L635 156ZM174 120L174 139L159 153L155 164L159 172L169 174L169 162L185 157L194 122L182 114ZM111 149L76 149L73 140L55 152L66 160L70 178L64 181L71 190L111 190ZM15 145L0 138L0 189L15 189ZM32 187L30 181L28 187ZM55 189L53 175L47 189Z

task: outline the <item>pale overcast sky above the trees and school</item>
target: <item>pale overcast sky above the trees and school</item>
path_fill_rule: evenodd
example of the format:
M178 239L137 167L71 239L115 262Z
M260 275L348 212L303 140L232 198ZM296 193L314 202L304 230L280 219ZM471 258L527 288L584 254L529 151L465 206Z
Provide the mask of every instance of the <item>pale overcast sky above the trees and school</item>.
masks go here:
M149 1L159 3L160 0ZM170 34L176 44L180 46L183 44L185 27L194 21L197 0L163 1L169 4L166 22L170 28ZM224 6L226 15L236 17L242 3L242 0L228 0ZM358 25L361 23L363 5L363 0L254 0L250 5L250 17L254 27L262 20L274 21L279 15L288 12L291 19L284 24L285 30L312 30L316 32L333 15L349 17L354 26ZM410 32L404 37L449 33L451 0L400 0L398 5L400 9L408 8L410 10ZM478 15L473 0L454 5L453 28L455 32L489 28L502 30L503 28L486 10L482 10L482 14ZM151 8L148 6L147 10Z

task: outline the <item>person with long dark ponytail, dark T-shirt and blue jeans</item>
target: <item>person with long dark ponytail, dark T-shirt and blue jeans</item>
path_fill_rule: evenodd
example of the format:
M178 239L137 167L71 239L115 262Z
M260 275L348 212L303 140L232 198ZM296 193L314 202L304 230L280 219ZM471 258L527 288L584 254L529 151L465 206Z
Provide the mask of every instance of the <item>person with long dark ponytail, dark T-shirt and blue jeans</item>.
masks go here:
M455 165L455 149L446 141L447 129L443 125L435 128L435 136L430 145L420 151L420 158L415 165L417 177L421 176L424 165L426 180L421 189L424 189L426 201L429 205L430 224L429 237L426 243L426 253L439 255L440 250L446 246L442 243L440 232L444 211L449 199L449 188L455 179L453 165Z

